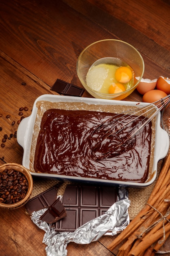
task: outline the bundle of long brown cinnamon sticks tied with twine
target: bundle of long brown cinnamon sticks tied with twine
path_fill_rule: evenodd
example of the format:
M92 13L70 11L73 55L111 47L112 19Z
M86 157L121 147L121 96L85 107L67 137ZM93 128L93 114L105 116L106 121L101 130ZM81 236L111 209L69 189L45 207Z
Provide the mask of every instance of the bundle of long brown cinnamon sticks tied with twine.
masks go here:
M170 154L166 158L161 173L155 184L155 187L148 199L145 207L130 222L128 227L121 232L115 240L108 246L111 251L119 245L124 239L126 242L119 249L121 254L128 252L126 255L143 255L145 252L151 252L159 248L158 240L163 237L163 232L170 234L170 223L167 220L161 220L159 212L164 216L169 209L168 200L170 199ZM170 215L167 216L170 219ZM155 222L157 221L157 222ZM163 227L163 221L165 226ZM153 227L152 227L153 225ZM152 227L149 231L148 227ZM146 230L146 232L145 232ZM144 231L144 232L143 232ZM155 233L156 232L156 233ZM142 234L140 239L140 234ZM139 237L139 238L138 238ZM166 238L167 239L167 235ZM148 239L149 238L149 239ZM131 248L129 252L129 248ZM128 250L128 251L127 251Z

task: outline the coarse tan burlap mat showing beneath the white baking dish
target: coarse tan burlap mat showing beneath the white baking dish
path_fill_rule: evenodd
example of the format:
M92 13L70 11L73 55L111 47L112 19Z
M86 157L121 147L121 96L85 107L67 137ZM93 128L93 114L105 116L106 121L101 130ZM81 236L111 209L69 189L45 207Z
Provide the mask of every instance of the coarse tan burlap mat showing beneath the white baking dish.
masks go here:
M162 160L158 163L157 177L161 171L161 165ZM150 193L155 186L156 181L157 179L150 186L146 186L145 188L127 188L130 200L130 207L128 209L130 220L135 218L139 211L141 211L141 209L145 206L148 198L150 197ZM58 182L59 180L57 179L33 177L33 191L31 193L31 198L33 198L35 195L42 193L46 189L49 189L51 186L57 184ZM73 182L65 180L60 186L57 194L63 195L66 185L71 183Z

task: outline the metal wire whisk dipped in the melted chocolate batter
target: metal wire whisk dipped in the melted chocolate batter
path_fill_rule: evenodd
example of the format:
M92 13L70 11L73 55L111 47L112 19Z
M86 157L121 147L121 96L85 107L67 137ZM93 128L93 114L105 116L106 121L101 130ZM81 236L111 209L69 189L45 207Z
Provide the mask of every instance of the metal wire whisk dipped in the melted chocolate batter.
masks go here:
M141 124L140 127L138 127L139 124L132 126L132 128L130 128L130 130L129 130L129 133L132 132L133 130L134 130L134 132L130 133L130 135L127 136L127 138L123 142L120 142L117 146L115 146L114 150L117 149L118 147L122 146L129 139L134 137L137 134L137 132L139 132L139 130L144 128L157 115L157 113L159 111L161 111L163 108L165 108L168 105L168 103L170 103L170 95L168 95L158 101L155 101L153 103L148 103L145 106L138 106L131 110L121 112L121 113L115 115L114 117L110 117L106 121L102 122L99 126L97 126L95 128L95 130L93 130L93 132L91 134L91 138L92 138L93 136L95 137L95 134L97 134L97 132L104 130L104 133L99 137L99 141L95 144L95 146L93 146L92 151L99 148L101 146L102 142L104 140L106 140L110 135L118 134L120 131L123 131L124 128L126 128L128 125L130 125L135 120L137 120L139 117L141 117L141 116L144 117L144 119L143 119L144 123ZM124 123L124 125L120 126L118 124L121 124L122 115L124 117L124 121L126 119L128 119L129 117L132 117L132 118L130 121L127 121ZM116 120L116 122L115 122L115 120ZM138 127L138 128L136 128L136 127ZM109 155L110 151L111 150L108 149L107 154L104 154L103 157L106 157L107 155ZM101 159L103 157L100 156L99 158Z

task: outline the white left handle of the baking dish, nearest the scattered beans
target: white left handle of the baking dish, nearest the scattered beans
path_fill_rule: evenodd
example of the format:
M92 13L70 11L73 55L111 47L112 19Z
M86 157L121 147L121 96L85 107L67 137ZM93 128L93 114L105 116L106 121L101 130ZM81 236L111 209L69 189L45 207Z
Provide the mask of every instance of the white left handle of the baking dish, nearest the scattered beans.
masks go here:
M20 122L18 129L17 129L17 141L22 148L24 148L24 142L25 142L25 135L26 135L26 130L28 128L28 123L29 123L30 117L25 117L22 119Z

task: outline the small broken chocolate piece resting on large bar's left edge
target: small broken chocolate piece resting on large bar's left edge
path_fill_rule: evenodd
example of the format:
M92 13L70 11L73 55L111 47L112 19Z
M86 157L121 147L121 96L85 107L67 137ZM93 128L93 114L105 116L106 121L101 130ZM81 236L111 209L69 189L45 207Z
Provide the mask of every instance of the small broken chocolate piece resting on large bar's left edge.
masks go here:
M49 224L57 222L58 220L66 216L66 210L60 201L60 198L57 198L53 204L42 214L40 220L43 220Z

